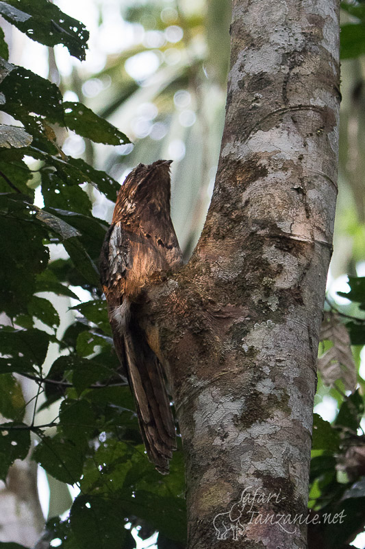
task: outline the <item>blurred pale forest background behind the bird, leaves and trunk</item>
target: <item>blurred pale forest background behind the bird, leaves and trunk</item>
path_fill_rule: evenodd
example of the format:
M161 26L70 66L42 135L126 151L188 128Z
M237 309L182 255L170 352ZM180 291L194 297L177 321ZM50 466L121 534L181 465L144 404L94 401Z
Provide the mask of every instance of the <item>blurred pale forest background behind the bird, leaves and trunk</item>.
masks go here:
M58 5L65 14L72 16L77 21L82 21L90 32L86 60L80 61L72 57L66 47L62 45L56 45L54 48L41 45L31 40L29 34L27 36L27 33L20 32L8 21L2 19L1 27L9 45L9 61L33 71L42 78L51 80L59 86L64 102L70 104L81 102L100 117L108 119L131 141L131 143L116 146L95 143L83 135L85 132L81 131L81 135L79 135L77 128L73 131L60 125L52 125L58 147L62 150L61 158L63 158L63 154L72 156L74 159L84 159L97 170L107 172L119 184L123 183L132 167L140 162L151 163L157 159L172 159L174 161L172 165L172 217L184 257L188 260L203 227L218 164L229 65L230 1L55 0L53 3ZM339 316L336 318L340 320L336 320L336 323L339 322L341 326L343 323L347 323L347 330L343 333L340 329L340 334L336 336L333 334L338 330L338 324L335 327L332 326L331 333L329 334L327 330L327 336L323 335L323 342L320 344L320 353L325 353L336 346L337 349L340 348L339 352L342 353L340 366L344 376L343 379L338 380L338 375L335 375L335 379L327 379L327 384L324 384L322 376L319 375L315 401L315 412L323 420L336 423L338 412L343 404L347 403L346 406L351 408L347 396L351 394L351 390L357 383L357 387L360 388L356 393L357 401L355 402L358 424L355 423L354 428L351 424L351 428L355 429L355 434L360 438L364 436L363 429L365 428L364 419L360 423L363 399L362 396L359 397L359 395L364 395L365 389L365 351L363 347L365 343L363 325L365 279L362 279L365 277L365 62L364 56L360 55L365 51L363 28L365 11L363 6L362 3L349 3L344 5L344 10L342 10L342 22L345 26L343 32L347 42L342 47L339 194L334 252L325 304L327 312L332 314L338 312ZM349 31L349 27L360 27L360 25L362 25L362 34L358 34L354 43L354 40L351 40L353 30ZM65 112L67 114L67 110ZM2 113L1 124L14 124L14 117L11 117L9 113ZM70 126L68 125L68 127ZM34 158L32 154L26 154L25 162L29 170L32 170L32 180L27 185L34 190L34 204L38 208L46 211L47 208L55 208L59 211L77 211L85 216L88 215L88 209L91 208L94 218L110 222L114 207L112 193L107 198L105 194L89 183L84 183L81 185L81 193L83 196L87 196L88 202L86 203L83 196L79 194L67 194L65 189L60 191L57 188L51 188L51 186L47 187L46 178L43 178L46 172L42 172L42 159ZM74 187L72 188L74 189ZM66 213L62 219L82 233L82 223L79 222L78 225L73 223L71 215L67 218ZM62 214L60 215L62 217ZM102 226L105 231L105 223L99 224L99 226ZM90 229L91 237L92 230ZM105 318L100 314L100 309L95 314L95 309L92 307L82 309L79 305L80 301L89 304L96 301L99 307L102 299L101 294L92 290L90 281L82 283L77 275L66 272L68 256L71 255L69 250L67 253L62 246L53 243L52 240L48 242L47 246L49 246L51 254L49 265L53 265L51 268L53 274L61 280L61 273L64 276L62 283L66 283L67 288L71 290L71 294L66 293L64 296L56 295L58 292L53 294L45 294L45 291L42 293L42 290L38 292L40 296L46 296L51 302L59 320L53 324L49 323L47 322L47 315L49 318L50 314L49 309L44 312L42 318L41 314L32 314L32 307L28 309L27 314L22 316L16 317L6 311L7 314L3 314L1 317L4 326L12 325L12 327L26 329L35 327L55 336L53 342L51 340L47 358L42 366L44 375L47 375L60 355L68 356L71 347L73 351L77 351L80 360L95 356L105 358L108 353L110 354L110 340L108 341L109 347L103 347L102 344L102 338L108 339L108 334L103 336L103 330L106 334L108 329L105 328ZM92 254L90 253L90 255ZM95 251L92 259L96 258ZM350 285L348 283L349 276L352 277ZM351 280L353 281L352 285ZM350 290L353 295L352 301L343 295ZM357 297L354 296L356 291ZM360 297L359 294L361 294ZM33 320L31 322L29 317L35 317L34 322ZM13 318L13 324L9 318ZM15 323L14 318L16 318ZM328 323L333 324L333 317L328 320ZM73 328L70 331L70 327L75 326L77 329ZM90 340L84 341L84 347L82 347L82 334L85 333L82 329L86 329L86 327L89 330L94 329L92 333L96 336L91 344ZM352 355L349 351L349 336L347 334L350 334L351 343L355 343L352 347ZM77 344L75 343L76 339ZM328 360L323 362L325 377L326 375L331 377ZM333 360L331 364L333 364ZM71 369L70 364L68 367ZM57 377L56 374L60 374L60 372L53 369L52 379L61 380L64 383L70 382L72 374L67 375L67 371L67 368L63 369L62 375ZM336 373L338 373L337 370ZM48 377L51 379L49 374ZM96 378L88 378L90 384L96 381ZM31 403L25 417L29 421L33 421L32 424L34 424L35 418L37 425L51 424L45 429L45 433L47 436L53 435L55 432L54 418L58 417L62 393L57 393L57 391L52 393L47 384L47 390L44 388L40 390L39 382L25 377L22 378L21 384L23 393L26 395L25 400ZM85 388L81 387L81 389ZM68 396L75 398L74 394ZM33 415L34 397L36 397L37 406L35 415ZM91 401L93 406L97 403L97 399L91 399ZM343 415L343 408L341 409ZM14 419L12 414L4 415ZM321 429L323 423L320 421L318 419L318 428ZM351 428L347 425L348 431L351 431ZM104 430L101 432L105 433ZM333 432L337 436L337 432ZM101 435L99 435L99 440L103 441ZM360 447L359 440L357 439L356 442L357 448ZM317 441L317 445L317 447L314 446L314 458L320 458L315 462L319 467L319 473L316 474L314 470L311 499L314 509L321 509L323 503L318 503L320 496L324 499L327 498L327 503L332 497L335 497L332 492L329 495L330 491L326 492L324 487L328 488L331 485L331 489L333 489L333 482L336 482L336 490L338 490L338 484L341 483L349 489L354 478L357 482L359 479L365 478L365 452L363 445L353 457L351 463L355 463L353 467L355 469L357 467L357 469L355 477L351 480L349 467L345 463L339 465L338 460L335 460L336 463L332 460L329 466L327 459L326 465L324 465L323 456L329 458L331 451L334 452L333 444L332 446L328 444L326 448L323 448ZM349 452L349 445L342 448L342 458L347 452ZM20 523L16 526L14 523L10 524L10 507L7 499L9 484L8 488L4 485L0 491L0 509L4 510L0 513L3 516L3 519L0 518L1 541L17 541L27 545L27 539L32 538L31 543L33 544L42 529L43 517L47 519L47 517L66 513L72 503L71 495L75 497L79 493L76 483L73 484L68 478L55 474L51 466L47 467L47 456L41 456L40 452L38 454L38 463L42 463L44 469L47 470L46 474L44 469L38 466L38 495L40 499L38 511L34 511L35 500L33 499L33 511L25 510L26 518L24 519L25 515L23 515L21 519L27 523L27 527L25 528ZM349 454L346 455L349 460ZM29 461L25 466L24 478L29 477L32 467L33 474L36 475L34 464L32 462L33 465L29 465L30 463ZM27 469L27 467L29 468ZM101 465L99 471L102 468L100 467ZM181 480L181 465L177 463L176 467L179 469L176 473L176 478L179 480L176 480L172 475L175 480L171 482L175 482L175 485L171 484L168 487L171 489L171 497L175 497L176 493L181 495L184 490L184 481ZM115 472L116 469L114 469ZM333 475L335 480L333 480ZM73 488L69 487L66 482L73 484ZM86 482L89 487L91 486L90 482L90 479L89 484ZM156 480L156 482L159 481ZM364 498L364 480L362 483L360 484L360 495ZM86 491L88 486L84 486ZM148 491L147 485L144 484L140 489ZM343 494L344 491L336 493ZM135 496L133 495L133 497ZM34 498L37 496L34 495ZM8 511L5 511L7 507ZM80 506L77 509L79 512L82 510ZM79 539L77 537L77 528L79 528L77 526L77 509L74 513L74 526L75 524L76 526L73 534ZM138 546L149 546L156 541L156 535L151 539L149 536L155 530L159 530L158 521L156 519L156 526L153 522L155 517L147 516L145 519L142 513L142 518L136 519L136 517L140 517L138 511L134 515L136 515L134 519L131 519L126 514L125 524L132 530L135 526L137 527L133 532ZM47 538L52 546L69 547L71 545L77 547L77 545L68 544L69 537L67 541L67 535L62 537L60 532L66 531L62 528L66 528L67 513L62 515L62 518L64 523L62 520L49 522L48 537L46 536L44 539ZM360 522L356 524L359 531L361 531ZM61 527L62 524L64 526ZM138 530L140 537L137 535ZM164 536L169 539L168 528L164 530L162 526L162 531L164 534L160 535L159 543L161 549L164 547ZM176 547L181 546L179 543L182 543L182 540L178 538L179 535L177 535L177 539L173 538ZM147 539L147 541L142 542L142 539ZM358 535L354 543L358 548L364 547L365 535ZM125 547L133 546L130 539L128 544L126 542ZM175 547L172 541L169 541L169 544L169 547ZM92 540L89 539L88 547L92 546L94 546Z

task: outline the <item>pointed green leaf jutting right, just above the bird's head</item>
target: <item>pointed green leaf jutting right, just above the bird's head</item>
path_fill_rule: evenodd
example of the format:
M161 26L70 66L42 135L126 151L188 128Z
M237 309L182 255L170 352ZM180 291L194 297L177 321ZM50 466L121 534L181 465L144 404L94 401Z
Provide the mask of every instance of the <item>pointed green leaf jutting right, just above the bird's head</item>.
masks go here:
M99 117L82 103L65 102L64 120L66 126L78 135L91 139L95 143L123 145L130 143L127 136Z

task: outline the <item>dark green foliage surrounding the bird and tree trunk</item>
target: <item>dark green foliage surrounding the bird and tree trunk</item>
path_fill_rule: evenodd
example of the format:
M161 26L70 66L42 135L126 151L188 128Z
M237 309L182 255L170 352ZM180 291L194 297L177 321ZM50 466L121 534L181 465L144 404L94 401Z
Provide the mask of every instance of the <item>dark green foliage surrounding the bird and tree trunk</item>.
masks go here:
M342 30L342 57L349 58L365 51L365 5L342 7L356 18ZM84 25L48 0L1 1L0 14L30 38L47 46L62 43L84 59ZM130 16L135 16L133 10ZM48 80L10 64L1 29L0 56L0 108L22 125L0 127L0 303L5 320L0 329L0 412L9 420L0 425L0 478L5 479L14 460L27 456L32 432L39 441L34 460L58 480L80 488L69 517L47 522L46 543L59 539L68 549L131 549L135 541L125 528L131 524L140 526L144 537L158 530L160 549L181 547L186 535L181 445L170 474L160 476L144 454L125 378L116 375L118 360L99 287L97 262L107 225L92 215L84 184L114 200L118 183L66 156L53 124L97 143L129 141L86 106L63 103L60 90ZM36 173L25 157L38 161ZM34 206L36 185L41 186L44 209ZM50 261L49 244L63 246L68 259ZM364 279L350 279L350 285L347 297L361 311ZM60 335L53 297L77 300L75 286L90 292L90 301L73 307L77 316ZM364 345L364 320L343 318L351 342ZM51 342L59 345L62 356L47 373L42 365ZM23 423L26 403L14 373L35 380L38 394L46 396L42 408L60 404L54 436L46 436L36 423ZM344 509L348 519L311 527L312 548L344 547L362 529L363 412L363 398L355 393L344 399L333 425L314 418L310 506L318 513ZM21 546L0 544L0 549Z

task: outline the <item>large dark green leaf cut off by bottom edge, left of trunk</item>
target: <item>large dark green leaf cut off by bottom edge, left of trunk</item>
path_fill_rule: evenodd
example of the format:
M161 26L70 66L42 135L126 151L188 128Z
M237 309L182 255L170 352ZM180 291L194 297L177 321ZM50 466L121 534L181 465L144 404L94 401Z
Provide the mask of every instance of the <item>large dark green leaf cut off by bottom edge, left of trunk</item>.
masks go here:
M70 513L71 529L85 549L121 549L127 537L118 500L79 495Z

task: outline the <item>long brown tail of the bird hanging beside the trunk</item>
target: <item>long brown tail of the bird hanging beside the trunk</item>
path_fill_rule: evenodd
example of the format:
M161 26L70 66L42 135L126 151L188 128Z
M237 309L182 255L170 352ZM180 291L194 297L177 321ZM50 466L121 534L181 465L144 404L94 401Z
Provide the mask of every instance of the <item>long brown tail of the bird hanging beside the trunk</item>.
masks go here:
M147 455L156 469L166 474L176 436L162 366L138 325L129 326L123 338L129 384Z

